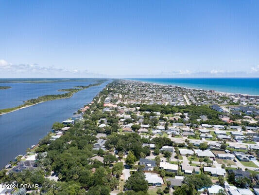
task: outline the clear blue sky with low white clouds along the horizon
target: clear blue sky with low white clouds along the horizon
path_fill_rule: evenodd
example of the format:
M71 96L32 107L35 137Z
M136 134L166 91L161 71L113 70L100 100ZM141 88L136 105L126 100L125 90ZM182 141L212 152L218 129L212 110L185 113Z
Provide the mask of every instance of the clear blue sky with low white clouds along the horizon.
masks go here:
M0 77L259 77L257 0L0 0Z

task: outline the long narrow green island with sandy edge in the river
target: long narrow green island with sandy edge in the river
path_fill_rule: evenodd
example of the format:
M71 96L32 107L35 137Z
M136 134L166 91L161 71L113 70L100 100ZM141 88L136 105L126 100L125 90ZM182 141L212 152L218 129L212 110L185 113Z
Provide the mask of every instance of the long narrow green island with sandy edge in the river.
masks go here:
M65 94L58 94L58 95L45 95L45 96L40 96L38 98L34 98L34 99L29 99L27 101L24 101L23 104L16 106L14 108L5 108L5 109L1 109L0 110L0 115L6 114L6 113L10 113L10 112L14 112L16 110L22 109L22 108L27 108L29 106L33 106L35 104L38 103L42 103L45 101L51 101L51 100L55 100L55 99L64 99L64 98L71 98L73 96L74 93L77 93L83 89L87 89L89 87L93 87L93 86L97 86L97 85L101 85L103 82L97 82L94 84L90 84L87 86L75 86L74 88L69 88L69 89L60 89L58 91L61 92L67 92Z

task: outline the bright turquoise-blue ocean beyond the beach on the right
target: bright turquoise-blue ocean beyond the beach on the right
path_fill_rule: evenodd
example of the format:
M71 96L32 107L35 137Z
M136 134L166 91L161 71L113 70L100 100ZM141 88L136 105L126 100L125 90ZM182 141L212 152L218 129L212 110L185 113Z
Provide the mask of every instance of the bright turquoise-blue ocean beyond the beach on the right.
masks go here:
M143 82L215 90L233 94L259 95L259 78L126 78Z

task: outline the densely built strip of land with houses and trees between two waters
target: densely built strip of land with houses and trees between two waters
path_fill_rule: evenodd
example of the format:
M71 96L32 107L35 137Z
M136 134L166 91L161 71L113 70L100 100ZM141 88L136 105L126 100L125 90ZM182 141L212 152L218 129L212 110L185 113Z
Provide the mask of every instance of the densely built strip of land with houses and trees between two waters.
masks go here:
M230 185L251 194L259 183L257 105L214 91L114 80L7 164L0 183L35 183L26 193L45 195L198 195L230 192Z

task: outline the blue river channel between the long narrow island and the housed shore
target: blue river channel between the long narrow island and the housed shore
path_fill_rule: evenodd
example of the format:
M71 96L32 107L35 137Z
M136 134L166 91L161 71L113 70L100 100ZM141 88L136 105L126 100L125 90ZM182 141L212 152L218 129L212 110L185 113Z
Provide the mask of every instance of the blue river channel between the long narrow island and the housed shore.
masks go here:
M40 138L45 137L47 133L51 131L52 124L55 121L61 122L71 117L74 111L83 107L87 102L91 102L92 99L102 91L110 81L111 80L108 80L101 85L79 91L71 98L47 101L12 113L1 115L0 168L6 165L10 160L13 160L17 155L25 154L25 150L30 148L31 145L37 144ZM76 82L70 83L71 84L69 84L69 86L66 85L66 83L59 83L59 85L69 88L79 84ZM90 83L93 82L84 82L83 85L88 85ZM8 84L6 85L8 86ZM52 84L56 85L55 83ZM38 85L39 84L34 86ZM51 83L48 83L48 85L51 86ZM63 89L64 87L59 89ZM50 91L52 90L53 89L50 88ZM33 93L33 89L30 91ZM52 93L48 94L51 95ZM6 99L4 101L6 101Z

